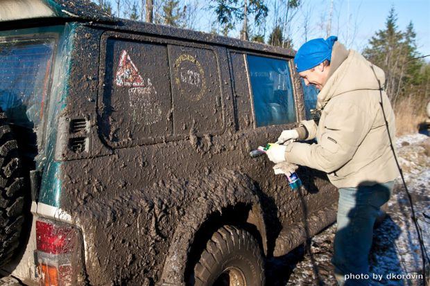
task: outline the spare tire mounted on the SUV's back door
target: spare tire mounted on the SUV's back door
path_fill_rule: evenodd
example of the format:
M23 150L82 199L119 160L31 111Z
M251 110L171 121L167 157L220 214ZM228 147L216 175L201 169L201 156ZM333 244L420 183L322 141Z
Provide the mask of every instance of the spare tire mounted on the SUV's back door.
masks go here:
M10 261L19 245L25 202L17 141L0 110L0 266Z

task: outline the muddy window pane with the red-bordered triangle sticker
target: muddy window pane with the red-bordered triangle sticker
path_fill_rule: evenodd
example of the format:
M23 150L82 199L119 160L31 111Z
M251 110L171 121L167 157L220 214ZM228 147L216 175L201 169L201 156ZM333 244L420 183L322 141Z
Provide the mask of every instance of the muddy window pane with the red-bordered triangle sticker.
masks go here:
M107 39L101 130L112 145L172 134L166 45Z

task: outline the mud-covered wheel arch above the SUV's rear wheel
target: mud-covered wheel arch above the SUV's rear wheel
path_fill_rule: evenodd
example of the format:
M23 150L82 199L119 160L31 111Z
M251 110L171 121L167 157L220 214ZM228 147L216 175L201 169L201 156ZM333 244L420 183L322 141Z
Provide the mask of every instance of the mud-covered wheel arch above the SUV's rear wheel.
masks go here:
M243 188L243 184L235 184L234 189L227 188L232 196L212 193L207 188L200 199L189 205L175 228L159 285L185 285L206 242L225 224L250 232L267 254L266 224L254 184L246 176L236 179L248 180L245 184L248 188ZM200 210L198 214L196 210Z

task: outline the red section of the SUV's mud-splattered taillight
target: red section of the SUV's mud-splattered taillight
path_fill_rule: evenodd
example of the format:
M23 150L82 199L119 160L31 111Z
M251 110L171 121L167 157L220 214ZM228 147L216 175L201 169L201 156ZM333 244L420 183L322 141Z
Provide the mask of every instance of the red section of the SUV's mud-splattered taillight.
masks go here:
M67 226L36 222L37 250L51 254L69 253L74 249L76 234Z

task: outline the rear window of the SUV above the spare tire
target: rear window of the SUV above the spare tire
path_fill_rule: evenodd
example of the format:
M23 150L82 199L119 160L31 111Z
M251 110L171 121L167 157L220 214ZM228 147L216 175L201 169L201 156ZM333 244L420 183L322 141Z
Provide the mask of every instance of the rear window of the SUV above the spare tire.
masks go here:
M54 40L0 42L0 106L15 125L40 125Z

